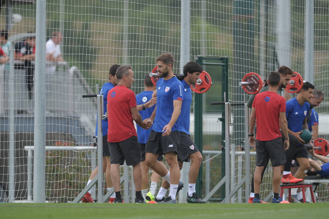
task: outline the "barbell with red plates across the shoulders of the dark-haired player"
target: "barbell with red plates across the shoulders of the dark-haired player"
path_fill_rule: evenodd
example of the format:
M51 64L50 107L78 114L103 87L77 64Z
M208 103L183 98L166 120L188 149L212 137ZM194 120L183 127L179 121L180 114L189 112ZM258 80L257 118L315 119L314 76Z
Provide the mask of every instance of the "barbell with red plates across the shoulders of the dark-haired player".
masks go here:
M157 69L158 69L158 66L155 66L153 68L152 72L149 74L154 86L157 85L157 81L161 78ZM180 81L184 79L184 75L175 74L175 76ZM202 94L202 93L205 93L206 91L208 91L212 84L213 84L213 82L211 82L210 75L207 72L202 71L202 73L200 74L200 78L196 80L196 84L194 86L191 85L191 90L195 93Z

